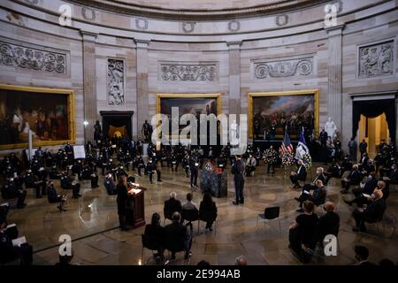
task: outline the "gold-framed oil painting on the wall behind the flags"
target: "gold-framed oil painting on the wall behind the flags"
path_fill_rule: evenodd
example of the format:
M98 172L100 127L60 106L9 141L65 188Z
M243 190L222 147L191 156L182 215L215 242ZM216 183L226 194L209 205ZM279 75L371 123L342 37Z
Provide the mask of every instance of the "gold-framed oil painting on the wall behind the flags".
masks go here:
M298 139L302 127L306 136L318 134L318 96L318 89L249 93L249 137L282 140L287 128Z

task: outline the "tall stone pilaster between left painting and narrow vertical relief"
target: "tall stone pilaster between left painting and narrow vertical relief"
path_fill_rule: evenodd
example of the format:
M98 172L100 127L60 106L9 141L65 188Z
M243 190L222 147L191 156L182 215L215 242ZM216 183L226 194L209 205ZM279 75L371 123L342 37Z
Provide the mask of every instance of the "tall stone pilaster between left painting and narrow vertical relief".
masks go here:
M84 96L84 141L93 142L96 112L96 36L97 34L80 31L83 38L83 96ZM76 126L84 126L76 124Z

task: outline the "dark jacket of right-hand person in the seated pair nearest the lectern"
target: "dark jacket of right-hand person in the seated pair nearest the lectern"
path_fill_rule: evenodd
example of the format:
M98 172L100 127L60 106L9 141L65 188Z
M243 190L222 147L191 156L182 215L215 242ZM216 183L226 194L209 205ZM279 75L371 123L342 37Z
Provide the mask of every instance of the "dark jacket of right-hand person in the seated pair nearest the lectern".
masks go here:
M190 234L187 226L177 222L172 222L165 226L165 247L172 250L184 250L189 241Z

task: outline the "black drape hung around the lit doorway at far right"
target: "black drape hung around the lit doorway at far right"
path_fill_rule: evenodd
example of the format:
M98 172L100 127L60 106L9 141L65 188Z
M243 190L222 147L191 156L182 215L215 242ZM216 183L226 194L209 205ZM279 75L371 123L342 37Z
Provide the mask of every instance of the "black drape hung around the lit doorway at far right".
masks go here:
M356 137L356 131L359 127L361 114L367 118L376 118L381 114L386 114L388 129L392 141L395 141L396 134L396 113L395 113L395 99L381 99L381 100L366 100L354 101L352 105L352 136Z

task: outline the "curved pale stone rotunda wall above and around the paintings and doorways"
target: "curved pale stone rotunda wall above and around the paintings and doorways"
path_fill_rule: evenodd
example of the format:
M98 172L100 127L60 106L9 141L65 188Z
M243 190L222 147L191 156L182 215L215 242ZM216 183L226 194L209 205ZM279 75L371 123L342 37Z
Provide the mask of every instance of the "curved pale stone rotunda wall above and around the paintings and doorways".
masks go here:
M336 4L333 27L325 26L325 4ZM0 83L73 89L77 143L84 140L82 122L93 125L100 111L134 111L133 134L141 135L143 121L156 112L157 93L222 93L222 111L239 114L248 111L249 92L319 89L319 125L332 117L345 145L352 131L351 97L398 89L397 5L318 1L243 18L189 20L132 15L79 1L5 0L0 3L0 42L58 52L65 56L65 72L1 61ZM71 25L62 20L60 25L60 11L69 8ZM391 72L364 71L360 54L383 44L390 46ZM288 75L261 73L266 65L298 62L305 62L304 67ZM115 65L121 69L125 103L109 99L108 71ZM208 67L212 75L208 80L166 80L163 70L172 65Z

